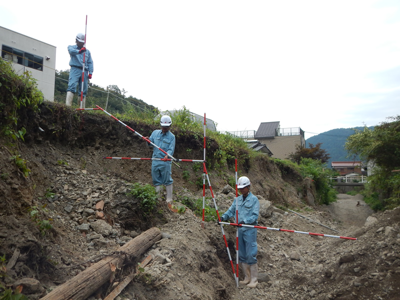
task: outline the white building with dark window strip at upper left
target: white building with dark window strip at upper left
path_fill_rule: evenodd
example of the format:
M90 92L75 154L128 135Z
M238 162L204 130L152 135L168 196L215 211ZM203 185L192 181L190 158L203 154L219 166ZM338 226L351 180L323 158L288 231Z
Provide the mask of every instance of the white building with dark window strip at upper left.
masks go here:
M29 71L48 101L54 100L55 46L0 26L1 57L14 71Z

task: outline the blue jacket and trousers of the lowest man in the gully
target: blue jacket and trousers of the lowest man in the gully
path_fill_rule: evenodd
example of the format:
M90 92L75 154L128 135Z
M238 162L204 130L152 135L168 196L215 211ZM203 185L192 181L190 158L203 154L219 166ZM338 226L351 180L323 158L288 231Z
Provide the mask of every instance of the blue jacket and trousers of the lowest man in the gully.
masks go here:
M238 196L233 200L232 205L226 210L222 217L224 220L236 216L236 201L237 203L237 222L243 221L247 225L257 225L259 202L258 198L250 191L243 200L243 195ZM257 262L257 229L253 227L239 227L239 262L247 263L248 265Z

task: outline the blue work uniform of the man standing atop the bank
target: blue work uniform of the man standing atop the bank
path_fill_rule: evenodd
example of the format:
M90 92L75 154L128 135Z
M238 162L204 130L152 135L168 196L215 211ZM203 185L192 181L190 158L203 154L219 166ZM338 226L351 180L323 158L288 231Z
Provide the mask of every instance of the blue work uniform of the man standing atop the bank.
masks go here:
M82 90L82 65L83 52L79 54L80 48L77 45L69 45L68 53L71 59L69 60L70 70L68 79L68 88L66 91L76 92L76 84L78 84L78 92ZM86 49L84 54L84 77L83 77L83 96L87 93L87 76L88 73L93 73L93 60L91 59L90 51Z

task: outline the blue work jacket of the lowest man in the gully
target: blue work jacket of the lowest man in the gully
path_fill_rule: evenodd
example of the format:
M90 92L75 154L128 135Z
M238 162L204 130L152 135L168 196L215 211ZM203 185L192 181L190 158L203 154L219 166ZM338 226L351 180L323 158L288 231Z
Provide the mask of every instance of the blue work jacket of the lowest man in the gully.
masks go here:
M230 219L232 216L236 216L236 201L237 202L237 222L244 221L247 225L257 225L258 213L259 213L259 202L258 198L254 196L251 191L248 192L247 197L243 201L243 195L238 196L233 200L232 205L226 210L222 217L224 220ZM242 227L243 230L251 229L251 227Z

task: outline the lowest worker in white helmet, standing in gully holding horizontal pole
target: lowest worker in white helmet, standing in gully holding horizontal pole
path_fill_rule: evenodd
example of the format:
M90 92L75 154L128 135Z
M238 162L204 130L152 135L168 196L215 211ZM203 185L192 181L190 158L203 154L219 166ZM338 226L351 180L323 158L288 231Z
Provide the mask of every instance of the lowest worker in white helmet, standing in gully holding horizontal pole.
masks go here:
M237 187L241 195L233 200L232 205L220 217L221 221L227 221L236 214L236 201L239 224L257 225L259 202L258 198L250 192L251 182L246 176L237 180ZM257 265L257 229L254 227L239 227L239 262L244 273L244 279L240 284L247 287L256 287L258 283Z

